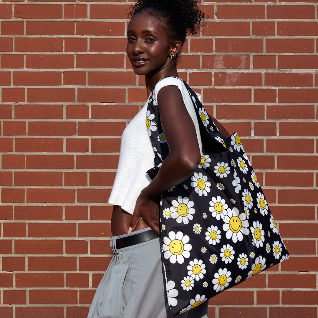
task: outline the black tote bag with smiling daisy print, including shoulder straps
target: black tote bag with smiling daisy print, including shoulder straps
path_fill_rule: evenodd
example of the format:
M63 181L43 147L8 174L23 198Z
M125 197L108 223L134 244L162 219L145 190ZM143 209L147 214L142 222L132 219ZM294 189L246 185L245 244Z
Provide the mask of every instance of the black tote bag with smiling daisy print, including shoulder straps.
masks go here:
M222 136L184 85L203 153L192 176L162 193L160 201L162 264L173 315L289 258L239 136ZM155 168L148 171L153 178L169 154L153 92L146 125L155 152Z

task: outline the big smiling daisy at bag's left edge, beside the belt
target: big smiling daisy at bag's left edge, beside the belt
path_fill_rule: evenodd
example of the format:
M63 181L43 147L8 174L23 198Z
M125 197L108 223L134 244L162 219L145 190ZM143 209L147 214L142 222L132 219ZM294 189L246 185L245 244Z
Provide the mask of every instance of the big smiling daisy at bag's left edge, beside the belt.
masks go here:
M189 236L183 235L182 232L169 232L168 236L163 237L162 251L165 259L169 259L170 263L183 264L184 258L190 257L192 245L189 244Z

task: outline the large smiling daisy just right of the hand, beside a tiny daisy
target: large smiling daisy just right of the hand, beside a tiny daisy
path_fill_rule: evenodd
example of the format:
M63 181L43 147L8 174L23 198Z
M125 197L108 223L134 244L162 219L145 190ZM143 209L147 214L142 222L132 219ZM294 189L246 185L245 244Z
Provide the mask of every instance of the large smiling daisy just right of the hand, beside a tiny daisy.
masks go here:
M193 201L188 197L178 196L178 200L172 200L170 207L171 218L176 219L177 223L188 224L193 219L195 210L193 209Z

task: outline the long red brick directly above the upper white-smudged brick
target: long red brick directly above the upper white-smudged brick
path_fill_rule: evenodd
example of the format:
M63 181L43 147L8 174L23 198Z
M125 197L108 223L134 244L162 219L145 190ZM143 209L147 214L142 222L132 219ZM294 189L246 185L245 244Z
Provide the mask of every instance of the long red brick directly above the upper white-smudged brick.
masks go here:
M263 39L217 38L215 52L263 52Z

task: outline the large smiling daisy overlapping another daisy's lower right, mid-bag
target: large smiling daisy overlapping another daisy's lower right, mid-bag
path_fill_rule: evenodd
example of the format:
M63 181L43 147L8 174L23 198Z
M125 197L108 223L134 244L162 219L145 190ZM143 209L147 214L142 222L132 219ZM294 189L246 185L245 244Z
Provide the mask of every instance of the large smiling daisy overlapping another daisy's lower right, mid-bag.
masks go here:
M231 239L233 243L243 240L243 234L248 235L250 230L248 229L248 221L246 219L245 212L239 213L239 209L227 209L227 215L223 219L223 231L226 232L227 239Z

